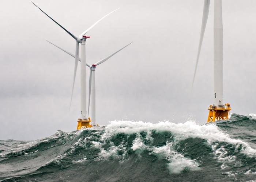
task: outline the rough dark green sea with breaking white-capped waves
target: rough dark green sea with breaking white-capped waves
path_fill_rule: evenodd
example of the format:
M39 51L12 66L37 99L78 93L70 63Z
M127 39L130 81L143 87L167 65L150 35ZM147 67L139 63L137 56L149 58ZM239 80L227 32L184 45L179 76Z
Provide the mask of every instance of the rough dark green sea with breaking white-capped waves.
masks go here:
M1 140L0 181L256 182L256 115L204 125L113 121Z

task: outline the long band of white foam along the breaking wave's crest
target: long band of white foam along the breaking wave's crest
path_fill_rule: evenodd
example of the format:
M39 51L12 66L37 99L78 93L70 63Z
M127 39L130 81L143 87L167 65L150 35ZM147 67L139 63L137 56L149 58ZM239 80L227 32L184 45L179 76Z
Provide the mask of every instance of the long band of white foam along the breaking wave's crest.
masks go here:
M227 142L232 145L242 145L241 152L247 155L256 157L256 150L247 143L240 139L233 139L230 136L220 130L216 124L203 124L199 125L193 121L187 121L185 123L172 123L168 121L158 122L156 124L149 122L132 122L132 121L111 121L106 126L105 133L102 135L102 139L111 137L113 134L126 133L134 134L142 131L150 132L156 130L170 131L174 134L174 141L178 142L187 138L202 138L205 139L210 145L214 142Z

